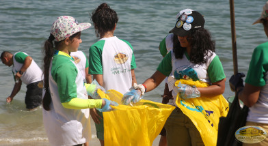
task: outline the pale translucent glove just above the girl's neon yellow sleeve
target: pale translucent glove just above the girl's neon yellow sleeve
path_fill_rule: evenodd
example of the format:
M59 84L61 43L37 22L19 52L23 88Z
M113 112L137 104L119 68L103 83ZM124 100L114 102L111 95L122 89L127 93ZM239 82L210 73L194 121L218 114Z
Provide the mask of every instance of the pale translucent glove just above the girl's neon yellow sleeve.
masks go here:
M96 80L94 80L91 84L85 84L85 89L87 89L88 96L91 96L94 99L100 99L100 96L97 93L98 89L101 89L106 93L106 90L100 86Z

